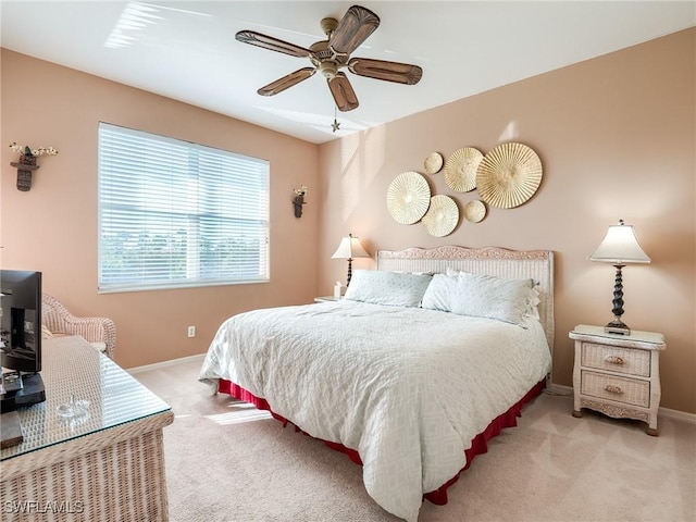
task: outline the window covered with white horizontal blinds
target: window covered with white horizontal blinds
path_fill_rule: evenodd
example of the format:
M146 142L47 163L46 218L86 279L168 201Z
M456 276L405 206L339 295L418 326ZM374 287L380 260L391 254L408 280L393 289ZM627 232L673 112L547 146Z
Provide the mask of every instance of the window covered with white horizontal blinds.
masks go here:
M269 281L269 162L99 124L99 291Z

